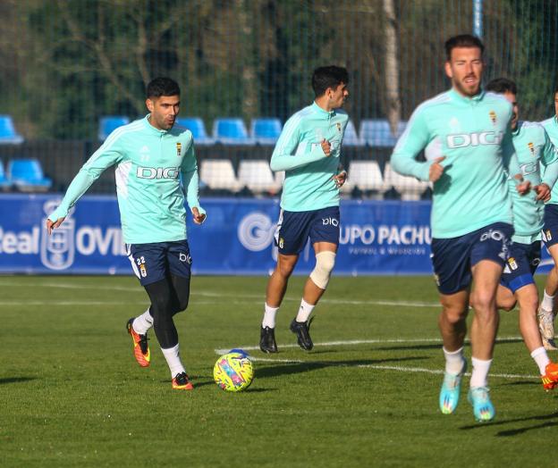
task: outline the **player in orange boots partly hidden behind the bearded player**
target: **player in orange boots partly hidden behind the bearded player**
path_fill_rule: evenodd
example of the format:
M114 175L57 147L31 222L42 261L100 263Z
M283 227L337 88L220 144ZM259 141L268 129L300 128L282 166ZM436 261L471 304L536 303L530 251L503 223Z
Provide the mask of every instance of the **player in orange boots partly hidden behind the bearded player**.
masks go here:
M485 89L503 95L513 106L513 147L523 177L535 188L534 192L520 196L515 189L515 182L508 182L515 232L511 238L510 258L503 268L496 304L498 308L510 311L516 302L519 303L521 335L538 366L543 387L551 390L558 382L558 365L550 362L538 330L538 291L533 274L540 263L544 202L550 199L550 190L558 179L558 153L539 123L519 121L517 86L513 81L493 79Z

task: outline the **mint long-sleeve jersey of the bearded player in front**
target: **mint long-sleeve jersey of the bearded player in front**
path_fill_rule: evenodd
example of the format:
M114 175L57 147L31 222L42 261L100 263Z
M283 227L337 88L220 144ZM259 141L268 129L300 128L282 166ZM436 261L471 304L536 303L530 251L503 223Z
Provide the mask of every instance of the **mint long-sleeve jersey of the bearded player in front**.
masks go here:
M445 156L434 183L434 238L455 238L495 222L512 223L508 169L519 174L511 142L511 104L494 93L461 96L451 89L420 104L393 150L393 170L428 180L430 165ZM428 146L426 162L416 157Z

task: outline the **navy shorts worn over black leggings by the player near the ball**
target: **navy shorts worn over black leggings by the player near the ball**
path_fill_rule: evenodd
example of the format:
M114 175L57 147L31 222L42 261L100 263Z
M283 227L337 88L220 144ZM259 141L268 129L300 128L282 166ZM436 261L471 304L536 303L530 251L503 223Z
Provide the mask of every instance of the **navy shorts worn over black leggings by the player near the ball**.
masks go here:
M186 239L127 247L131 268L141 286L165 280L170 274L190 278L191 256Z

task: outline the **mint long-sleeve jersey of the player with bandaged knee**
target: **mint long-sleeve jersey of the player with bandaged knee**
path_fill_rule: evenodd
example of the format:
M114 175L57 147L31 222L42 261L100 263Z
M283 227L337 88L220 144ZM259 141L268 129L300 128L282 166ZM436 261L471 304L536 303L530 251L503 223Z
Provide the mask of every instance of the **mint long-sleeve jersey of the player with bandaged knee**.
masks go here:
M349 116L340 109L326 112L316 103L285 122L271 156L272 171L285 171L281 207L290 212L339 206L333 177L340 164L342 138ZM325 156L321 142L331 144Z

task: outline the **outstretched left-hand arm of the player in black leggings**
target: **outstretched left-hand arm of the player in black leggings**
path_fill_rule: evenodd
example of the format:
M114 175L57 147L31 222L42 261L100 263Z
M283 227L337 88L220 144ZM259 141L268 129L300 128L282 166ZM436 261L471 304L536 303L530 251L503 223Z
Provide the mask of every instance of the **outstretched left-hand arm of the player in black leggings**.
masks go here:
M73 178L66 190L60 205L47 218L47 232L58 228L68 215L70 208L76 204L93 182L97 180L108 167L119 163L122 159L118 137L114 135L106 138L105 143L100 146L87 163L83 164L80 171Z

